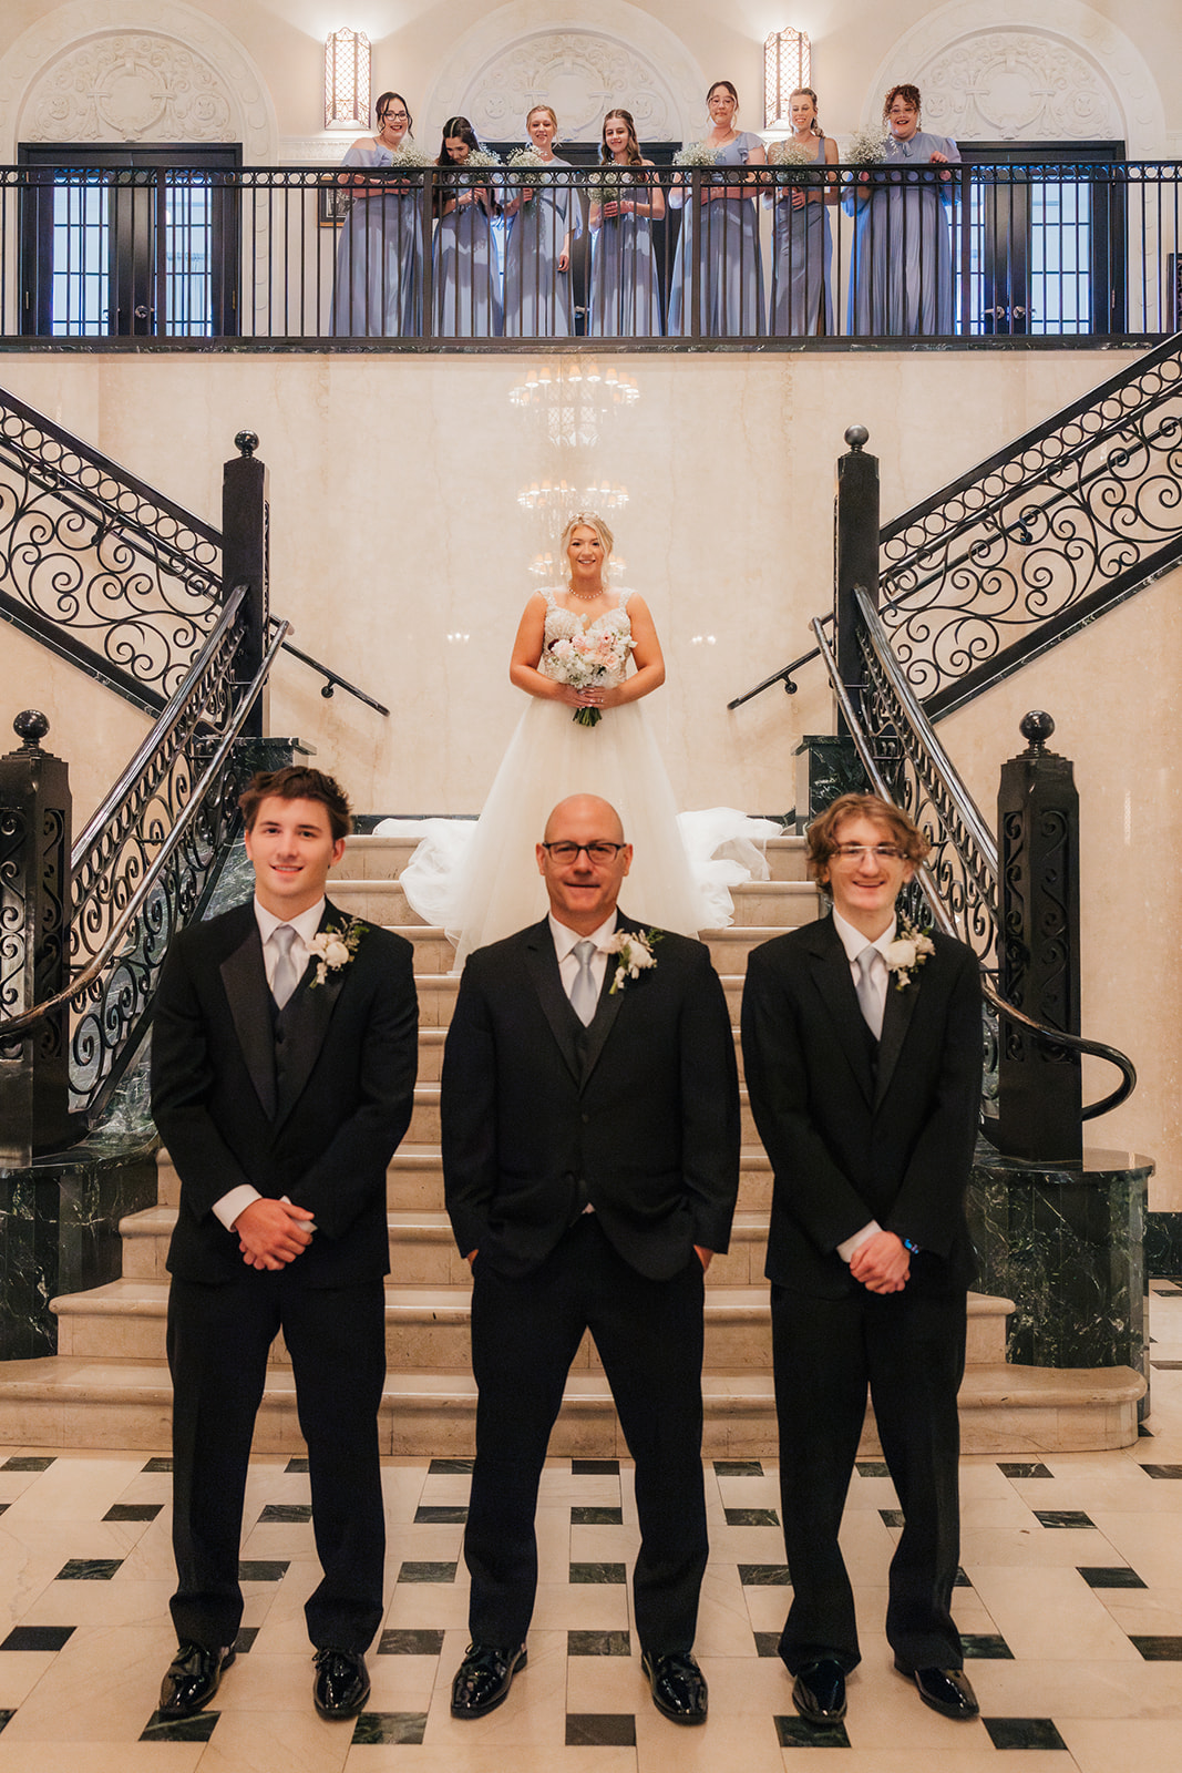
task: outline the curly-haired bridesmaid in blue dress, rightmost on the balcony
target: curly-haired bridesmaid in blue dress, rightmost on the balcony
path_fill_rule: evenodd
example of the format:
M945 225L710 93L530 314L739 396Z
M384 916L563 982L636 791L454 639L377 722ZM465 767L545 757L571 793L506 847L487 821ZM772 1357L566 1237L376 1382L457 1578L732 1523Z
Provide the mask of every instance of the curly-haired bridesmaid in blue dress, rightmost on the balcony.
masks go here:
M891 87L883 106L890 135L883 167L854 188L856 227L849 266L851 333L914 339L953 328L948 167L960 149L920 129L920 89ZM921 168L934 167L934 172ZM911 168L904 172L902 168Z

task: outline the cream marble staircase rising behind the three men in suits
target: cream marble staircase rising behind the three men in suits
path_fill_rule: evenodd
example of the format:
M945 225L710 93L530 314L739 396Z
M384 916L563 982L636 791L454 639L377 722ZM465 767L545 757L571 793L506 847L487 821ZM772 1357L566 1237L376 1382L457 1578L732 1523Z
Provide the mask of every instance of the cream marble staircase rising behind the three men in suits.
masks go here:
M406 904L399 872L408 839L354 837L335 871L331 897L344 910L399 927L415 943L420 1066L408 1138L388 1172L392 1275L386 1289L388 1379L381 1408L386 1454L464 1456L473 1450L475 1383L468 1356L468 1264L443 1211L439 1073L457 980L443 931ZM732 1019L739 1021L751 947L817 915L805 879L801 839L767 844L771 879L734 892L732 929L707 931ZM771 1170L743 1094L743 1179L730 1252L718 1257L705 1294L705 1454L774 1454L771 1333L764 1245ZM0 1440L37 1447L165 1450L170 1385L165 1363L165 1257L177 1177L159 1160L159 1202L124 1220L122 1278L53 1301L58 1355L0 1367ZM1049 1372L1005 1363L1005 1300L969 1298L969 1365L960 1392L966 1452L1037 1454L1100 1449L1136 1440L1141 1381L1115 1372ZM287 1353L276 1346L259 1415L259 1452L301 1449ZM875 1450L868 1424L865 1452ZM590 1340L576 1358L551 1452L617 1457L627 1452Z

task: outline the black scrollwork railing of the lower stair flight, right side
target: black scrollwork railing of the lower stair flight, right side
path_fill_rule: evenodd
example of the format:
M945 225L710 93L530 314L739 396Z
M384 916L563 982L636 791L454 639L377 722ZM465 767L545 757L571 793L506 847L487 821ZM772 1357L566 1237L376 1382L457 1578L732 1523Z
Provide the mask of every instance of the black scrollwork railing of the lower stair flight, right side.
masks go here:
M918 886L930 915L945 934L957 936L973 949L982 965L982 993L999 1018L1021 1023L1053 1046L1067 1046L1116 1066L1122 1074L1116 1089L1083 1110L1085 1121L1108 1113L1136 1085L1132 1062L1102 1041L1063 1034L1035 1021L998 991L998 846L891 654L874 603L865 590L858 590L856 599L865 663L859 707L840 679L820 621L812 624L813 635L875 793L902 807L932 844L929 860L918 872Z

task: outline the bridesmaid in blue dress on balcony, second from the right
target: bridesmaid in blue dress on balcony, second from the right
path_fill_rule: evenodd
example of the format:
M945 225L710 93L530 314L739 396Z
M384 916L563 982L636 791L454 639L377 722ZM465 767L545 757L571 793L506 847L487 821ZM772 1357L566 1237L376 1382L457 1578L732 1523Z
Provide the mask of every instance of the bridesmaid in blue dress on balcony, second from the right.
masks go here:
M797 87L790 94L789 117L792 119L789 144L812 154L817 167L836 165L836 142L817 121L817 94L812 87ZM808 174L806 167L803 170ZM780 184L773 193L771 330L774 333L810 337L833 332L829 202L835 197L836 186L829 186L822 174L808 174L806 183Z

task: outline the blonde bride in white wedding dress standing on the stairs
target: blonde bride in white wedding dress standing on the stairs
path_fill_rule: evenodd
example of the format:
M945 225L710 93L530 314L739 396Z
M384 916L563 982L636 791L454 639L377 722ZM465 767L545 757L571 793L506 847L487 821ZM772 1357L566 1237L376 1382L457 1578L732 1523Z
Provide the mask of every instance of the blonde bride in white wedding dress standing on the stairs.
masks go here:
M377 826L379 833L422 832L400 883L413 910L455 943L455 972L473 949L544 917L535 844L567 794L599 794L620 814L634 846L620 902L642 924L686 936L730 924L728 886L767 876L751 839L780 835L773 821L728 807L677 817L642 707L665 683L661 642L645 599L604 583L611 546L603 518L579 512L562 535L569 583L535 592L525 608L509 676L530 702L477 824L392 819ZM576 637L603 640L624 663L574 688L564 681L569 649L562 642ZM587 711L594 725L585 723Z

